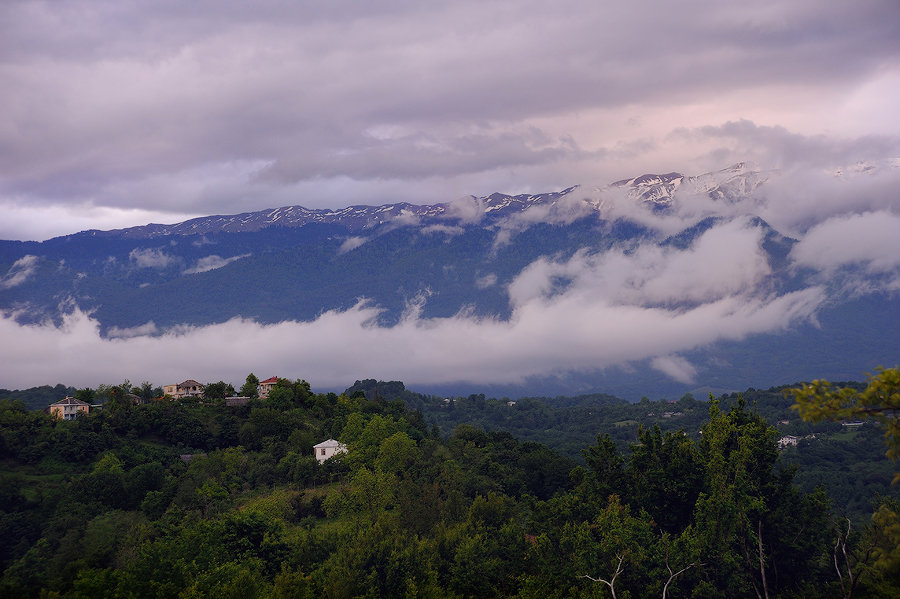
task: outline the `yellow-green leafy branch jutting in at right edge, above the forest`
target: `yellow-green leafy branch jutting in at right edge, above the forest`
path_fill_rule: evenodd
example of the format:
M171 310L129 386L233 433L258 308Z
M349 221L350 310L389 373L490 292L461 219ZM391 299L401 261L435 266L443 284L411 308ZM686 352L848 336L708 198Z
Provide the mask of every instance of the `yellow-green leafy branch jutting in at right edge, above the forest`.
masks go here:
M836 389L826 380L815 380L802 387L788 389L796 402L791 406L804 420L849 420L869 418L885 427L887 456L900 459L900 370L877 368L867 375L868 385L862 391L851 387ZM894 482L900 481L900 473Z

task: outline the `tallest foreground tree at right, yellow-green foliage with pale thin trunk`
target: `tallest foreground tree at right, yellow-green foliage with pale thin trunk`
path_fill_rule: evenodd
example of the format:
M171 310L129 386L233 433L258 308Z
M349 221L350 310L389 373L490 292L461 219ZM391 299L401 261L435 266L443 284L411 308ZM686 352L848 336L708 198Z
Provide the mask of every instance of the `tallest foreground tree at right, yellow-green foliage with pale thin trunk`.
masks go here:
M704 561L715 564L705 576L729 595L796 591L828 550L827 498L793 486L793 471L780 468L776 434L745 410L743 398L728 413L711 400L694 523Z

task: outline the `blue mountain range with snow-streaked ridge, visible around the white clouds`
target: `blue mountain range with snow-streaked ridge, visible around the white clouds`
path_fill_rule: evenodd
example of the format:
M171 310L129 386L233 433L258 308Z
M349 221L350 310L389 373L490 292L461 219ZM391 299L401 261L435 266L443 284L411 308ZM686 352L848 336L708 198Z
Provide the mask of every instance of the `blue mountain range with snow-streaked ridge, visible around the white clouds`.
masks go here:
M506 320L515 311L510 287L530 265L578 256L629 256L647 248L689 250L733 219L734 207L742 202L746 206L737 212L746 227L758 231L768 271L754 283L759 289L748 294L778 295L821 285L821 273L792 266L789 255L797 241L752 210L762 203L770 175L737 164L700 176L643 175L602 190L497 193L427 206L289 206L173 225L84 231L44 242L0 241L0 311L20 324L59 322L77 306L109 337L158 334L235 317L259 323L311 321L360 302L380 310L381 326L396 324L411 307L423 319L466 314ZM696 197L721 210L679 217L680 202ZM654 226L658 222L667 225ZM557 277L548 293L564 293L570 283ZM836 297L823 303L813 321L777 333L726 335L728 340L683 355L715 363L703 383L723 390L814 375L846 379L886 361L890 366L900 355L896 294ZM677 312L695 304L690 297L654 301L642 307ZM882 340L877 345L868 342L873 334ZM604 389L630 399L637 399L636 393L702 392L653 371L648 362L632 364L649 373L641 381L613 369L566 375L565 380L538 378L529 381L527 391L484 384L472 390L512 395Z

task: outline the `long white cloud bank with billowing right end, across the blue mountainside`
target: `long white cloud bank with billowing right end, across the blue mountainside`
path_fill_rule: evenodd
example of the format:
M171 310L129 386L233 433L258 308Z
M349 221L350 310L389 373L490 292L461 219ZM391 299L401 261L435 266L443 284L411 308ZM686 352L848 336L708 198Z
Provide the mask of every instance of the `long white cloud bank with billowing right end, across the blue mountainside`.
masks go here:
M396 325L381 326L379 308L361 301L311 322L235 318L171 331L148 324L103 337L99 323L77 309L58 327L22 326L6 316L0 335L16 343L0 349L0 385L52 382L47 364L53 377L79 386L116 378L239 382L252 371L340 387L369 376L420 385L516 383L642 359L690 383L697 368L680 353L787 329L813 319L829 297L825 284L769 289L762 239L751 219L736 218L685 249L542 258L509 285L508 320L466 312L425 318L413 305Z

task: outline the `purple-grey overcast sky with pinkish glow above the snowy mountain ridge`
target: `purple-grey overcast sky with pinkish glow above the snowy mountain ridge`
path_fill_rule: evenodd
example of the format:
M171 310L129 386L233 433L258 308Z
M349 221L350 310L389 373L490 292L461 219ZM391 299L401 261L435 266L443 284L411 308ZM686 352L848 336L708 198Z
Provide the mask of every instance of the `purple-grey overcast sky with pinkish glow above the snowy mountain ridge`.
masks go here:
M0 239L896 156L900 5L0 3Z

